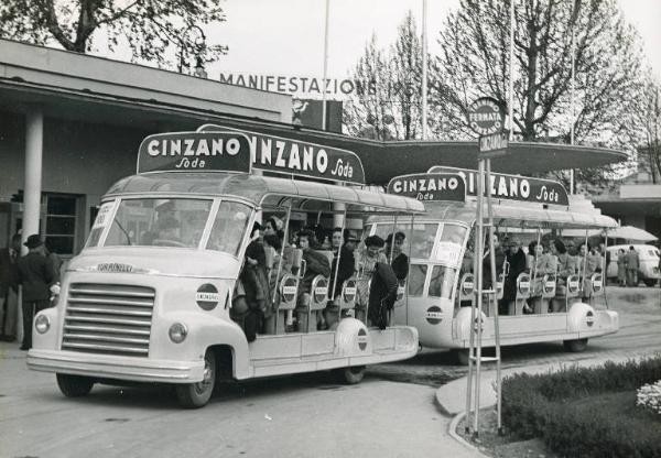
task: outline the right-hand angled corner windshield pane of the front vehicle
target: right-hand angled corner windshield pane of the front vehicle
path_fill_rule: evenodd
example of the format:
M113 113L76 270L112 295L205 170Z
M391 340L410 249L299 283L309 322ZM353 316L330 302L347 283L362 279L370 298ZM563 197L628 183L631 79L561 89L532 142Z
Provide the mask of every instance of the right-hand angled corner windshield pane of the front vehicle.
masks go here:
M251 209L246 204L224 200L218 207L207 249L239 254L241 240L248 230Z

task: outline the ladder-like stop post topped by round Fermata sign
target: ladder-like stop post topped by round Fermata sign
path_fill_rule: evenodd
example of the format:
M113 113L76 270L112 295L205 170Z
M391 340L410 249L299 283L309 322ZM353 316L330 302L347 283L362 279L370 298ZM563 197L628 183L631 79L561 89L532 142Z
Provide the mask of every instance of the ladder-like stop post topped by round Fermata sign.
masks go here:
M497 410L498 410L498 432L502 432L501 425L501 390L500 390L500 329L498 324L498 303L496 299L496 253L494 252L494 212L491 208L491 157L498 157L508 154L508 132L505 128L505 112L498 100L490 97L481 97L475 100L468 108L468 124L479 134L479 154L477 160L478 179L477 179L477 231L475 235L475 259L473 271L477 277L477 301L473 302L470 310L470 339L468 349L468 386L466 390L466 433L469 430L469 419L472 403L472 389L475 390L475 411L474 411L474 437L479 436L479 388L481 363L486 361L496 361L496 389L497 389ZM486 173L486 181L485 181ZM487 215L488 215L488 253L491 270L491 286L484 288L484 200L485 183L487 184ZM496 357L484 358L481 356L481 334L483 334L483 299L487 297L494 304L490 307L494 310L494 332L496 340ZM475 364L475 386L473 386L473 366Z

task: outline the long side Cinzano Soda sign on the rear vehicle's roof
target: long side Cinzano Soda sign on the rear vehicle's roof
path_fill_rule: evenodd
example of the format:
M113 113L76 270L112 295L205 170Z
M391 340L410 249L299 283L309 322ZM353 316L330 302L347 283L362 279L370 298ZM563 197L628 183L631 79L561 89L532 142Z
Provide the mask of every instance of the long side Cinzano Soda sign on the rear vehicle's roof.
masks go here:
M459 174L466 181L466 194L477 196L477 171L433 166L430 173ZM538 204L570 205L564 186L551 179L491 173L491 197L498 199L532 201ZM485 186L485 195L486 195Z

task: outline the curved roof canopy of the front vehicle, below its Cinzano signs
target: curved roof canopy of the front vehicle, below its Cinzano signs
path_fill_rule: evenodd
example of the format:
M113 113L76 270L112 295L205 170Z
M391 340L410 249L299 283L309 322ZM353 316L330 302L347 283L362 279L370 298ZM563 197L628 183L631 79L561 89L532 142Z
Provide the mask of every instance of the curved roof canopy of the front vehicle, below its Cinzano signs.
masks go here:
M191 196L237 196L262 205L268 196L292 196L299 206L307 199L345 203L381 210L424 212L422 203L402 196L317 182L270 176L213 173L149 173L120 179L106 196L149 194Z

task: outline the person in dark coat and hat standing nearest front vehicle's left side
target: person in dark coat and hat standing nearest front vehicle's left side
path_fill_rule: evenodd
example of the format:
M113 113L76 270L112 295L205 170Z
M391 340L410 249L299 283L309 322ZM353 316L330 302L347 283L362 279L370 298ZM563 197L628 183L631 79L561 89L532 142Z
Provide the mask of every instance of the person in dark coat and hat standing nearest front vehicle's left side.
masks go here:
M21 350L32 347L32 320L36 313L47 308L51 286L55 283L53 264L46 259L44 242L39 235L28 237L28 254L19 259L18 283L23 285L23 345Z

